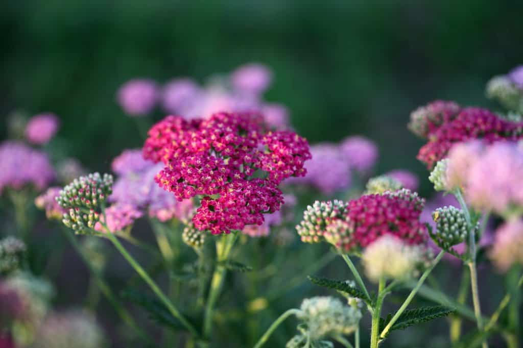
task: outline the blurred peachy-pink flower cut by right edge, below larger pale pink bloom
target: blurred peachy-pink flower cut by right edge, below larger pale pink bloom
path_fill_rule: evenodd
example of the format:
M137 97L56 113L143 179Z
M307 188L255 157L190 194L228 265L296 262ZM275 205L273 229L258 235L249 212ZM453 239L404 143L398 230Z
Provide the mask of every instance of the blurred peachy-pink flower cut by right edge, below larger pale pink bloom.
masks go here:
M523 221L521 219L510 219L497 229L490 258L502 272L506 272L514 264L523 264Z

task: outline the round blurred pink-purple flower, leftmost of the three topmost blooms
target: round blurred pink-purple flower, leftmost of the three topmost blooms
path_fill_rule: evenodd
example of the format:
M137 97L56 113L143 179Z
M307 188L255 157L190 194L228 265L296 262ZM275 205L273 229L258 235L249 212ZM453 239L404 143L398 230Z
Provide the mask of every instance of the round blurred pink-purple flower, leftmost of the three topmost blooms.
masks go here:
M154 108L158 95L158 88L153 80L133 79L118 90L118 103L130 116L143 116Z

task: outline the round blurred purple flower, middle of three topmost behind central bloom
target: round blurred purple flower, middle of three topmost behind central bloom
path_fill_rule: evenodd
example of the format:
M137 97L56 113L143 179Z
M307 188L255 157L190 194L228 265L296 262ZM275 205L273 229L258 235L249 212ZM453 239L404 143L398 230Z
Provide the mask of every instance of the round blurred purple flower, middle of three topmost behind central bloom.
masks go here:
M167 83L162 92L163 108L185 117L186 111L197 108L203 91L190 78L177 78Z

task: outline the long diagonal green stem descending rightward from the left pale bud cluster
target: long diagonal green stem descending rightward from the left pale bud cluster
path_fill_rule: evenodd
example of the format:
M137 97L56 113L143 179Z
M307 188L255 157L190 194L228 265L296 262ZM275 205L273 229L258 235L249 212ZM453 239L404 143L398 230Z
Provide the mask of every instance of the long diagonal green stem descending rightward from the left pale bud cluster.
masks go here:
M199 336L198 331L192 326L192 324L183 316L180 314L178 309L172 304L172 302L165 296L162 289L156 285L156 283L151 279L149 274L145 272L145 270L140 266L140 264L134 260L134 258L127 252L126 248L121 245L118 238L113 235L112 233L107 233L108 238L111 240L111 242L115 245L116 249L122 254L122 256L129 262L129 264L134 268L134 270L142 277L142 279L149 285L152 289L152 291L158 296L158 298L163 302L163 304L167 307L170 314L172 314L176 319L180 321L180 323L187 328L187 330L194 336Z

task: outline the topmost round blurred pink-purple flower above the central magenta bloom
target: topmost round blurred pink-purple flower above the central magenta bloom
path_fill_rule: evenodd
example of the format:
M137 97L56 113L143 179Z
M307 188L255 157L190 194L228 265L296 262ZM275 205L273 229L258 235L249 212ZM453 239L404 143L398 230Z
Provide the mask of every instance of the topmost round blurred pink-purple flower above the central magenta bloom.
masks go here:
M271 79L269 68L258 63L242 65L231 74L231 84L236 91L253 95L265 92Z

